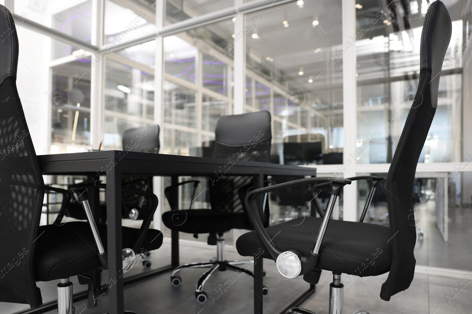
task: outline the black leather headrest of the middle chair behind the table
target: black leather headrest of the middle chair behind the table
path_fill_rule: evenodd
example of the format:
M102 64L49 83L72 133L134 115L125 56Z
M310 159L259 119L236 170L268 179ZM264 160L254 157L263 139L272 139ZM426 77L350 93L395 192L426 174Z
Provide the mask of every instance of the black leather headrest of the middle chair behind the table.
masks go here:
M260 143L271 138L268 111L221 116L216 121L215 143L242 146L249 140Z

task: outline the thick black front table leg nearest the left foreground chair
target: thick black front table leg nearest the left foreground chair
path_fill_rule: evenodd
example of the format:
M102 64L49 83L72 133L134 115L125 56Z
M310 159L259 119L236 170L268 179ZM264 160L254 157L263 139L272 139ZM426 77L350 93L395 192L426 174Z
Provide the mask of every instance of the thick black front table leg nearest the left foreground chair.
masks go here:
M123 297L123 238L121 230L121 171L119 164L107 171L107 236L108 236L108 286L110 313L124 313Z

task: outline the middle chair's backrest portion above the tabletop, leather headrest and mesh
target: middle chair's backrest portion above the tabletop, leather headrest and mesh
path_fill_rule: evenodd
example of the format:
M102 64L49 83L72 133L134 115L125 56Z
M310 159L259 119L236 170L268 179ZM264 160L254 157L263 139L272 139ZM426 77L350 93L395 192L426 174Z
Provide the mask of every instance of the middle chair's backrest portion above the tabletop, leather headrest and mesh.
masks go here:
M259 111L219 117L213 157L237 161L270 161L270 113Z

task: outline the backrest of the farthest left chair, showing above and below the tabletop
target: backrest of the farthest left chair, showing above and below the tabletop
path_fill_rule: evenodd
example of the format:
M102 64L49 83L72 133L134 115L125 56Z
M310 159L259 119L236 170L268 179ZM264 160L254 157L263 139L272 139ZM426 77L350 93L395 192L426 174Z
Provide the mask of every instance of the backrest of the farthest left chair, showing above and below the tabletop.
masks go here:
M152 124L126 129L123 133L122 143L125 151L159 153L159 125ZM135 190L152 189L152 177L150 176L123 176L121 183ZM121 204L124 216L127 217L131 209L138 208L142 199L143 197L133 193L123 193ZM142 205L145 206L145 201Z

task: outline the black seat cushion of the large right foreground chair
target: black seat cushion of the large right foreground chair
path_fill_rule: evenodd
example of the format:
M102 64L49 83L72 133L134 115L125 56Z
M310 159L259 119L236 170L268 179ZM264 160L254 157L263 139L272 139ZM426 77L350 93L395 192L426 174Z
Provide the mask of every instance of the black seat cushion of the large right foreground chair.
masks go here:
M266 228L280 251L297 250L308 257L313 250L322 218L304 217ZM331 219L320 248L316 268L361 277L390 270L392 249L390 229L383 225ZM242 256L271 258L255 232L244 233L236 241Z

